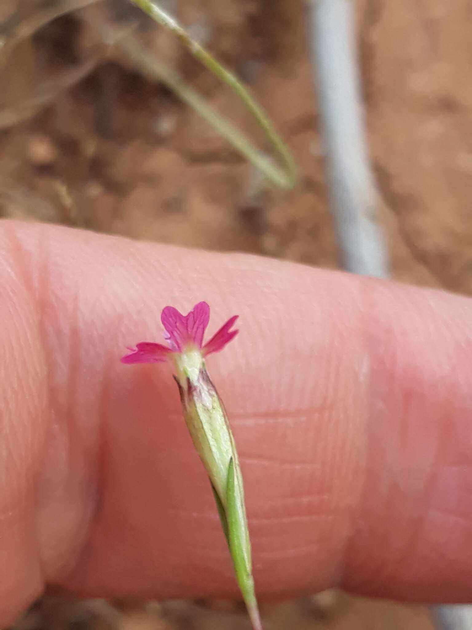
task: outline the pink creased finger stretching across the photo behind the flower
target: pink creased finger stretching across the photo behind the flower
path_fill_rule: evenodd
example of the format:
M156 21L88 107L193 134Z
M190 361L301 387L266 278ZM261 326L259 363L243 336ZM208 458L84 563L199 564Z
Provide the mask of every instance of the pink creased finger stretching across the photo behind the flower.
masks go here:
M259 600L472 600L472 299L8 221L0 287L0 627L48 586L239 596L168 366L117 360L201 295L244 321L211 372Z

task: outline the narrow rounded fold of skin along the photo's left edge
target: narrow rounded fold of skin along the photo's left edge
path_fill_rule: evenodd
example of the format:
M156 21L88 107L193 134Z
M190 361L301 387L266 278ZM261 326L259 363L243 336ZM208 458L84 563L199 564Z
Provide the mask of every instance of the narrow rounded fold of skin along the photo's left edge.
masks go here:
M45 365L37 314L25 291L16 245L7 234L0 234L0 251L6 255L0 266L1 371L3 387L9 385L0 408L0 620L9 607L26 605L43 585L32 499L45 438L40 421L46 403L40 386Z

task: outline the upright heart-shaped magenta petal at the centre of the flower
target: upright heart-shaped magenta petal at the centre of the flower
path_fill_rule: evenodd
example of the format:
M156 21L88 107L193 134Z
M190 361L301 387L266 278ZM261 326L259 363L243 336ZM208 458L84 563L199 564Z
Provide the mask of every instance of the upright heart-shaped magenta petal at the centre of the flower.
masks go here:
M201 348L209 319L210 307L206 302L196 304L188 315L181 314L173 306L166 306L160 316L166 329L166 339L176 352L182 352L188 343Z

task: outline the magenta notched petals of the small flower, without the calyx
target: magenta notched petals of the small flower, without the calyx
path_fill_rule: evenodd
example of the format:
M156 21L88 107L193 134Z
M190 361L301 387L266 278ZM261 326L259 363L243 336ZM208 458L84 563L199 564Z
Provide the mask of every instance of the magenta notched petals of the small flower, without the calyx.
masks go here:
M169 346L161 343L142 341L131 354L121 358L123 363L159 363L169 360L172 353L181 353L188 350L201 350L203 357L213 352L220 352L237 334L237 330L231 330L239 316L234 315L227 323L211 337L210 341L203 344L206 326L210 321L210 306L206 302L198 302L188 315L183 315L173 306L166 306L160 315L160 321L166 329L164 337Z

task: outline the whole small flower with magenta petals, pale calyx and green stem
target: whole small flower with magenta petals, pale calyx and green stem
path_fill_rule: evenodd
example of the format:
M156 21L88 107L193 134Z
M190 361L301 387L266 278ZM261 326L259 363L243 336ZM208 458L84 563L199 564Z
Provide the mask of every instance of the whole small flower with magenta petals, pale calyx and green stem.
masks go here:
M123 363L169 361L174 366L184 418L193 443L210 477L223 531L233 559L236 578L254 630L262 630L252 578L249 531L244 505L244 490L233 434L215 386L206 371L205 357L220 352L238 333L232 330L238 316L227 323L203 345L210 320L210 307L199 302L188 315L172 306L162 311L168 346L143 341Z

